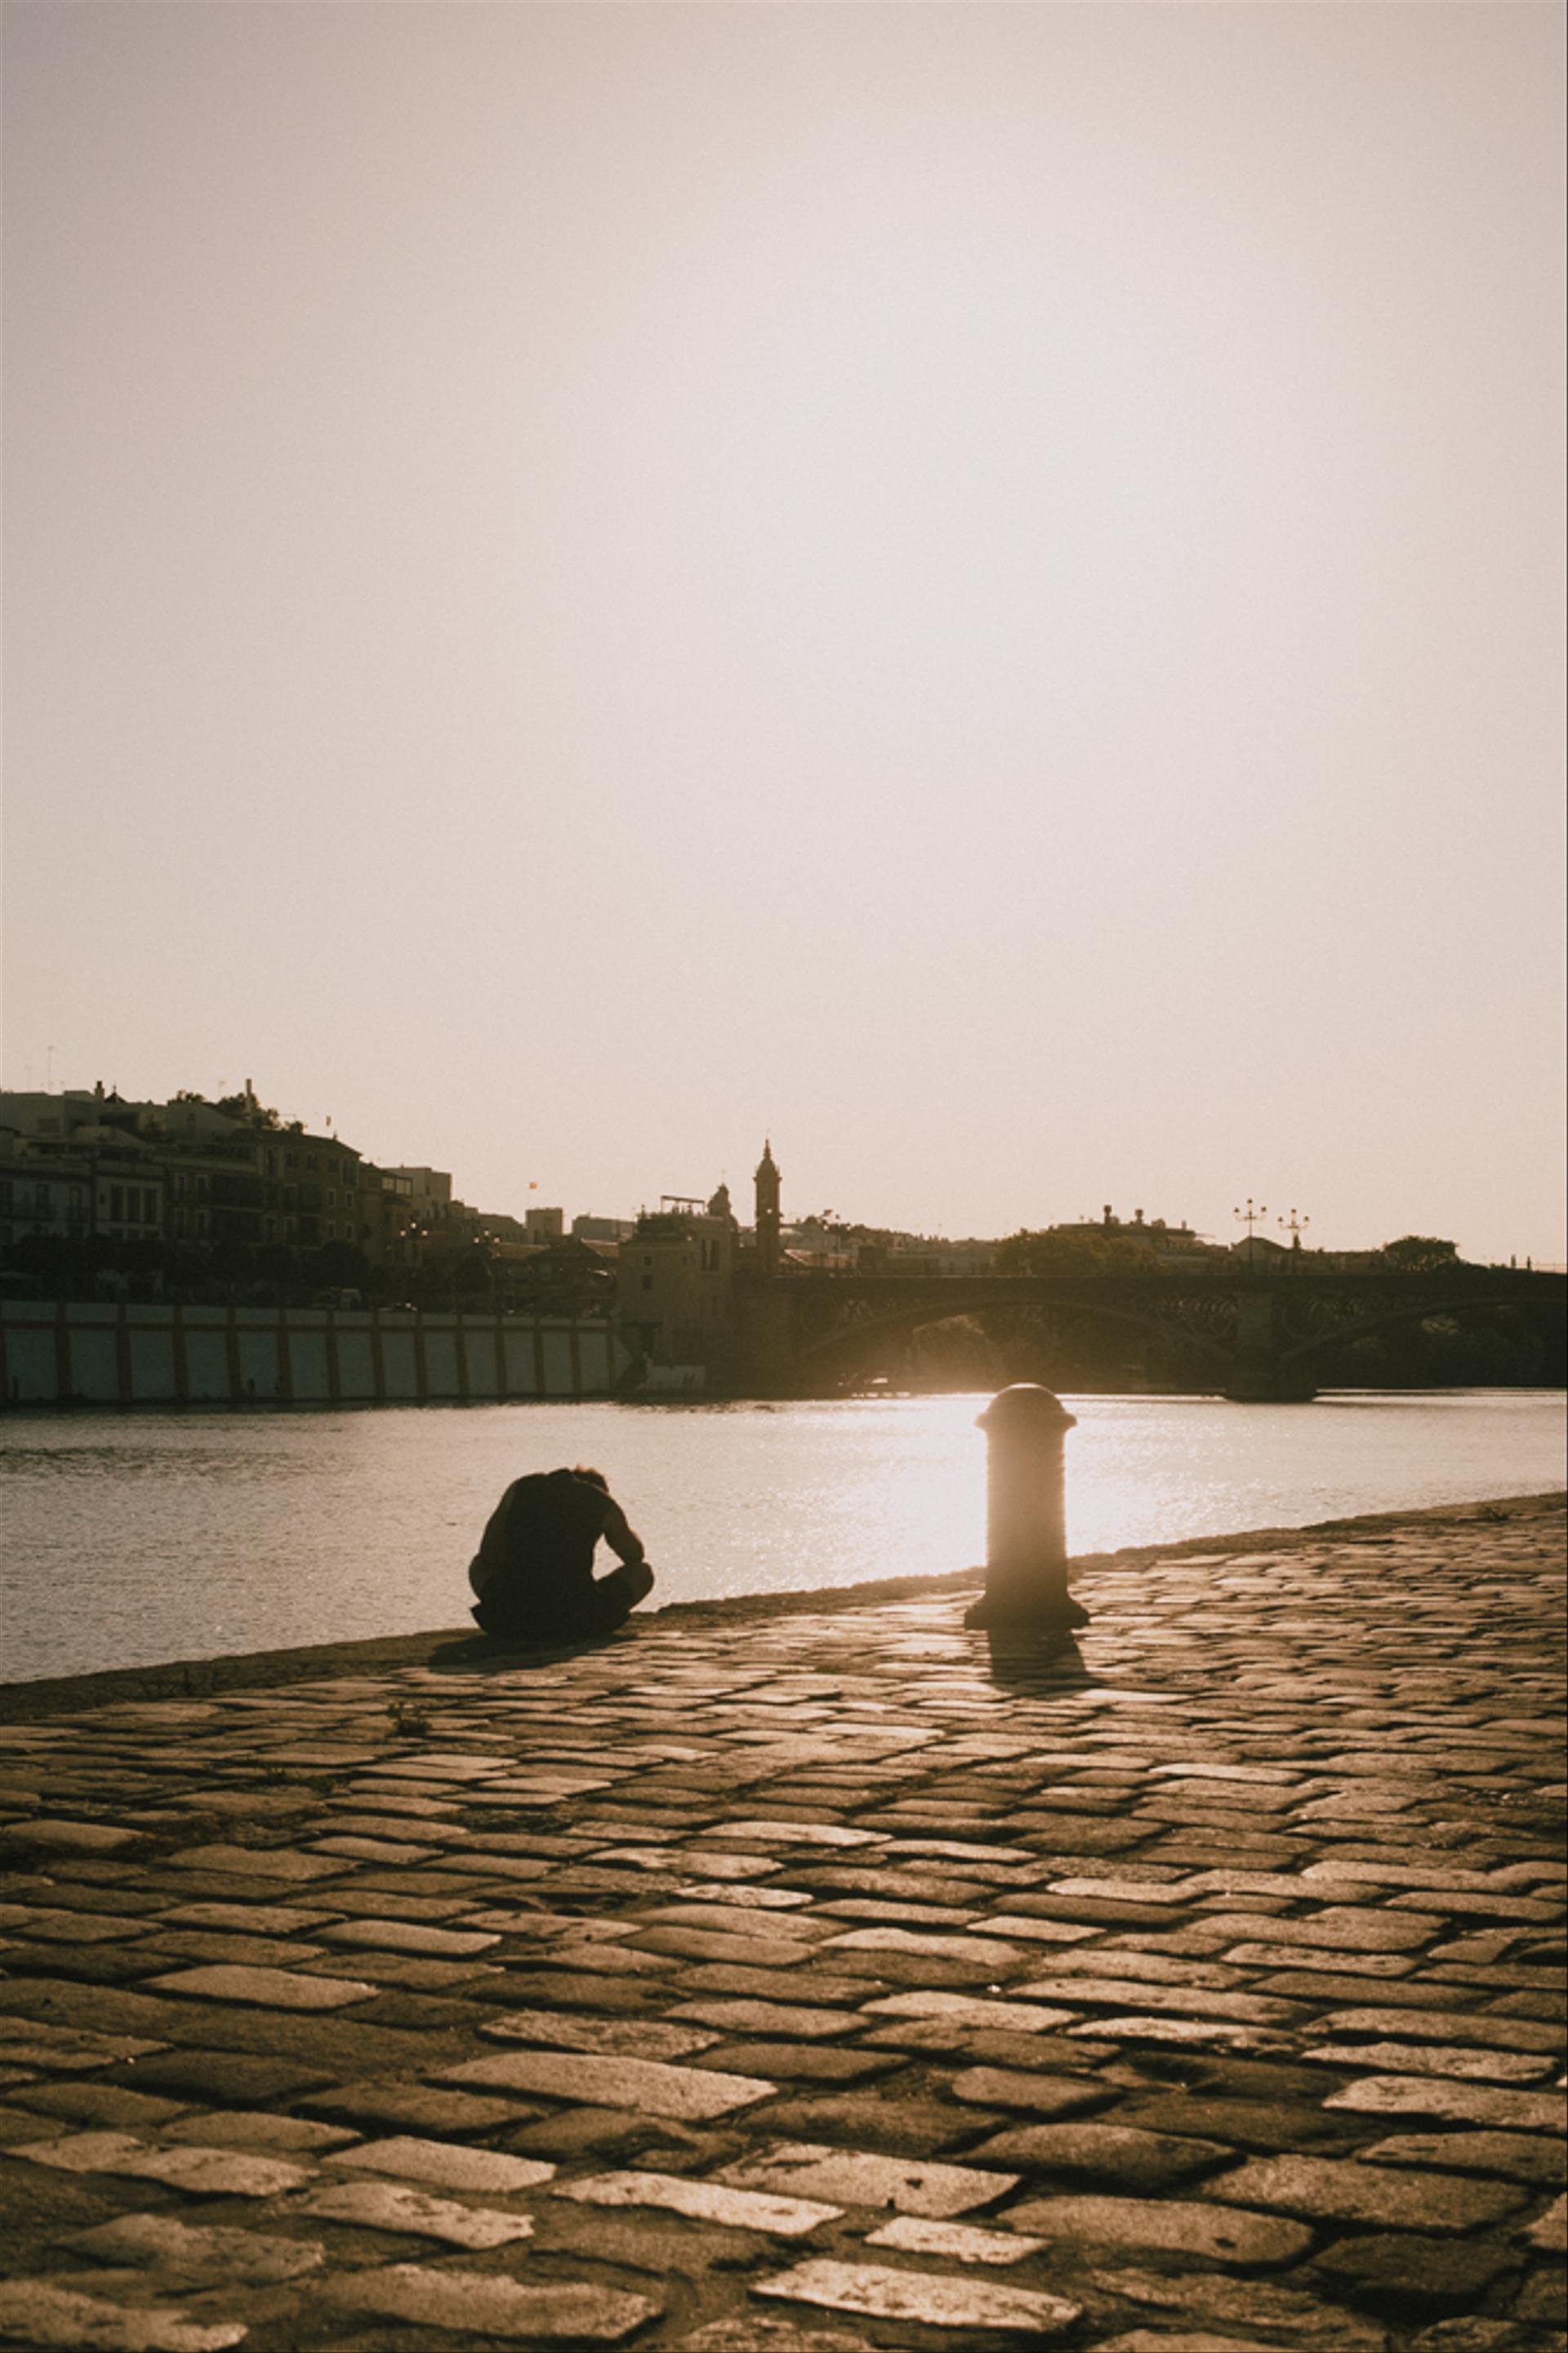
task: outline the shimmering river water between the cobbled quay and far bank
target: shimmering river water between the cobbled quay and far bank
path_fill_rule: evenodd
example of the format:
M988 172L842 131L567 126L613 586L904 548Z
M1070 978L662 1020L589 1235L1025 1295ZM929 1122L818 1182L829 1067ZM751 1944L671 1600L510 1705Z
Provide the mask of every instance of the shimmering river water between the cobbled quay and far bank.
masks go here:
M984 1560L984 1398L0 1421L0 1680L466 1621L501 1487L596 1464L655 1602ZM1540 1494L1561 1391L1069 1398L1074 1553Z

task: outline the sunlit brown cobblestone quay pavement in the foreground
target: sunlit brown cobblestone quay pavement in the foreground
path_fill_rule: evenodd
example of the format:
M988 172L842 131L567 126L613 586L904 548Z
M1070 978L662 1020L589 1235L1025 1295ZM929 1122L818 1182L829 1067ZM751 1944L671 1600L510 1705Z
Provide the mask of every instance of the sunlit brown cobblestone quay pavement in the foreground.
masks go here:
M0 2339L1563 2346L1561 1499L0 1734Z

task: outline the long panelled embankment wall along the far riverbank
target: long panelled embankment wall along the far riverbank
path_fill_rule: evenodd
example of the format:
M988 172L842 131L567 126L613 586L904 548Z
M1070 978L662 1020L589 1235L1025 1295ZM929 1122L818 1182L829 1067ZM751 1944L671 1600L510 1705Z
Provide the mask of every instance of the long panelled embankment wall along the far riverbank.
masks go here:
M7 1405L452 1405L605 1398L596 1318L0 1301Z

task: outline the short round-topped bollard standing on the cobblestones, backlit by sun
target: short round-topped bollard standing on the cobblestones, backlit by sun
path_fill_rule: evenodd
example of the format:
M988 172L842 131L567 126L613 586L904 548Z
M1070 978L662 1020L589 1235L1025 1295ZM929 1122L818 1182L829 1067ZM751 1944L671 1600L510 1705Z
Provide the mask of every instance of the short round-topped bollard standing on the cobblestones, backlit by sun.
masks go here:
M986 1591L965 1626L1088 1626L1067 1591L1062 1442L1076 1417L1038 1381L998 1391L977 1417L986 1433Z

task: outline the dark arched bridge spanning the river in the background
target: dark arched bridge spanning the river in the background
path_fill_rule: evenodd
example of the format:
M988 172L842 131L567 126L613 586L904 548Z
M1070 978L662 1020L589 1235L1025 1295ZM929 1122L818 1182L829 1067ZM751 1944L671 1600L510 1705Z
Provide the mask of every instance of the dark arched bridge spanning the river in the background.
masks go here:
M1170 1386L1243 1402L1316 1395L1321 1360L1347 1341L1429 1318L1464 1320L1519 1308L1561 1348L1568 1275L1514 1266L1434 1273L1333 1273L1311 1257L1278 1273L1149 1266L1104 1275L859 1275L735 1278L737 1388L751 1398L819 1398L885 1369L890 1351L954 1315L1034 1308L1055 1325L1090 1318L1121 1327Z

